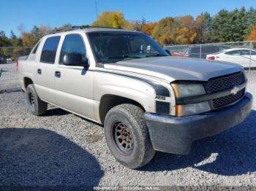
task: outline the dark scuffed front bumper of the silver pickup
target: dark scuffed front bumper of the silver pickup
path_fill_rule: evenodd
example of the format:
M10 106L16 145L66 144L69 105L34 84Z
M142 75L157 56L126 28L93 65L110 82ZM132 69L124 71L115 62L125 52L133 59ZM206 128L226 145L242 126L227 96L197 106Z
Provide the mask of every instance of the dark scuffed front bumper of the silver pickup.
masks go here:
M189 117L146 113L146 125L155 150L187 155L192 142L238 125L252 110L252 95L225 109Z

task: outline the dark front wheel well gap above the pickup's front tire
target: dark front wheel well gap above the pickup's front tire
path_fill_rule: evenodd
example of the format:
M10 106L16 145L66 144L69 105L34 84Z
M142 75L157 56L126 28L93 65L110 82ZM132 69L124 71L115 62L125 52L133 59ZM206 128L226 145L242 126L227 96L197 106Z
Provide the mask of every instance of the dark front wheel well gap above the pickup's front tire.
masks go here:
M118 95L103 95L99 104L99 118L102 124L104 124L108 111L114 106L118 106L120 104L133 104L135 106L139 106L141 109L143 109L143 111L145 111L141 104L132 99L124 98Z

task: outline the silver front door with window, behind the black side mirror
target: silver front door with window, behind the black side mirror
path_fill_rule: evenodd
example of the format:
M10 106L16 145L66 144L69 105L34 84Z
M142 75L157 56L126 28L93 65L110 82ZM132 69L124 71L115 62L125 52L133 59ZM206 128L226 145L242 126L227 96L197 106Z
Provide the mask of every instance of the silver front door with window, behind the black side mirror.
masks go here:
M83 66L65 66L65 54L77 53L86 58L86 46L80 34L67 34L61 45L56 72L56 103L64 109L94 119L94 71Z

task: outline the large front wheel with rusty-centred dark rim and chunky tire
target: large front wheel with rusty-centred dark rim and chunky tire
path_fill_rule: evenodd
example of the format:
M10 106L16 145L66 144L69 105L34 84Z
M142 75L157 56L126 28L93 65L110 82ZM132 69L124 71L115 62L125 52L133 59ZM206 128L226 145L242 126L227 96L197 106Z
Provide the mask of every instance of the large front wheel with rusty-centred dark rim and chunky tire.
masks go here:
M154 157L143 109L121 104L105 117L105 137L112 155L128 168L140 168Z

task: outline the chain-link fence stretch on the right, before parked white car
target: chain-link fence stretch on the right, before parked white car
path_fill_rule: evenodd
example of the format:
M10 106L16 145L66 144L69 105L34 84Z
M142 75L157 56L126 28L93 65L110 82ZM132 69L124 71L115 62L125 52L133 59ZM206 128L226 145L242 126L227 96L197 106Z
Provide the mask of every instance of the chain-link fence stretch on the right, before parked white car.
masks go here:
M228 61L249 70L256 68L256 41L165 45L164 48L173 56Z

